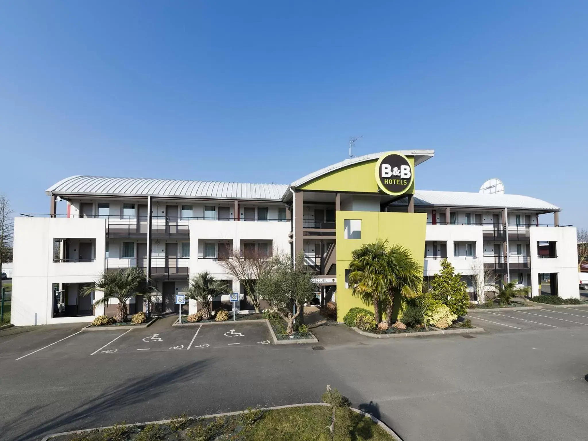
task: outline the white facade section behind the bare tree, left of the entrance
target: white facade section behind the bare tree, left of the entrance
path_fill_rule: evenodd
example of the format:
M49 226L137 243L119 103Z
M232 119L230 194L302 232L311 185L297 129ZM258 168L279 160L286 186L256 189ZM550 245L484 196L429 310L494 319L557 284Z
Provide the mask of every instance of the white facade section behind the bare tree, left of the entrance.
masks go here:
M271 216L268 215L271 219ZM277 209L276 209L277 217ZM225 271L222 263L215 259L203 259L199 252L199 243L203 239L211 242L216 240L232 240L233 249L240 249L241 240L271 240L273 253L289 253L290 244L288 234L290 222L245 222L223 220L191 220L190 228L190 277L202 271L208 271L216 279L233 280L233 290L237 292L240 287L238 280ZM229 300L229 296L222 296L221 300ZM189 301L189 313L196 312L196 302Z

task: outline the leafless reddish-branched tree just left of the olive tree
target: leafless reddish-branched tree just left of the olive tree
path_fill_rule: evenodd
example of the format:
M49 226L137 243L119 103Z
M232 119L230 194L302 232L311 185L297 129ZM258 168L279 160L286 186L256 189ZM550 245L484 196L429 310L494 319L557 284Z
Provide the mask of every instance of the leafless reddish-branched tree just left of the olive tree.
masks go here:
M242 283L245 295L249 296L255 312L259 312L259 296L255 293L255 282L259 276L272 266L271 256L258 252L232 249L228 258L220 261L220 265L237 280Z

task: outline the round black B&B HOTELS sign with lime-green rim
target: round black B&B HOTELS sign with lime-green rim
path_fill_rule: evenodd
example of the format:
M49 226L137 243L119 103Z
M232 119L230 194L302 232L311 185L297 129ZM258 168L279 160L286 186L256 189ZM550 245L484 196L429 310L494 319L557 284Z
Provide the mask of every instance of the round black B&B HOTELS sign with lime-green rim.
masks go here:
M385 153L376 163L377 186L389 195L402 195L414 179L415 170L405 155Z

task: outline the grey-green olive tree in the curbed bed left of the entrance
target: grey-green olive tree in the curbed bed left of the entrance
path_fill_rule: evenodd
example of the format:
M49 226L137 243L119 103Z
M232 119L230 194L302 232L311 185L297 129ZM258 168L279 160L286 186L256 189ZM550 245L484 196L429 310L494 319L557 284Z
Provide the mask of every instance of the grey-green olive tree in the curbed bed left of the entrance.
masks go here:
M304 265L304 253L296 256L294 266L289 255L274 256L258 277L256 292L286 321L288 334L294 332L294 322L304 313L304 304L315 296L316 286L311 277L312 273Z

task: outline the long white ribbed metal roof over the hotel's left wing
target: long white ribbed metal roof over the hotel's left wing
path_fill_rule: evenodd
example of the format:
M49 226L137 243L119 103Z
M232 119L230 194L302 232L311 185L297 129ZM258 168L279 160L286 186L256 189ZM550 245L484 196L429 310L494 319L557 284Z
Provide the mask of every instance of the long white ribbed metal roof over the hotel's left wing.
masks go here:
M70 176L46 189L51 195L172 196L211 199L280 201L288 185L238 182L179 181L176 179Z

